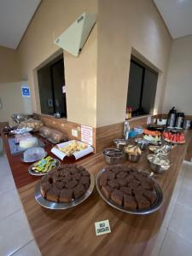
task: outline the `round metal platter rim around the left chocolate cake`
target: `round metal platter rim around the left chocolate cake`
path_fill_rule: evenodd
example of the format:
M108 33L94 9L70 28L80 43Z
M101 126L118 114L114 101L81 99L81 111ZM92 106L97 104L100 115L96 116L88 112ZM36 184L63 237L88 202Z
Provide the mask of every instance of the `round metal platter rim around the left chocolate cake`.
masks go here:
M82 195L76 200L73 200L70 203L55 203L54 201L48 201L44 199L40 191L40 182L38 182L38 185L35 189L35 199L38 202L38 204L41 205L42 207L45 207L51 210L66 210L72 207L77 207L80 203L85 201L93 192L94 186L95 186L95 177L93 174L90 173L90 188L86 191L84 195Z

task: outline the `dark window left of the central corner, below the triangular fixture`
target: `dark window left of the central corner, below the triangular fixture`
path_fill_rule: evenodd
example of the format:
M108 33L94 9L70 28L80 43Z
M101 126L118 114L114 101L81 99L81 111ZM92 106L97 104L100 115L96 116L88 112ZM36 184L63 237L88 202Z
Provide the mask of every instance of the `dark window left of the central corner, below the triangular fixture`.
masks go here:
M54 114L59 112L61 117L67 117L66 93L63 55L38 70L38 90L41 113Z

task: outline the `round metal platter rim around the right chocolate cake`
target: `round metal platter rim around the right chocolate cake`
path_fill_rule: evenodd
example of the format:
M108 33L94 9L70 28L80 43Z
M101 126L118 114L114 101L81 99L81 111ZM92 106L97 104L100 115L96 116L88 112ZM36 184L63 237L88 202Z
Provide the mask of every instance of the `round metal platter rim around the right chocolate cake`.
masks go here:
M137 214L137 215L150 214L150 213L156 212L160 209L160 207L163 203L164 197L163 197L163 192L160 189L160 185L158 183L156 183L155 181L154 181L155 182L154 189L156 190L156 193L157 193L157 200L154 202L153 206L150 207L149 209L144 209L144 210L129 210L129 209L125 209L124 207L120 207L120 206L115 205L113 203L113 201L111 201L105 195L102 194L102 190L100 189L100 186L99 186L99 179L100 179L100 176L102 175L102 172L105 172L105 169L102 169L96 175L96 189L97 189L99 195L102 197L102 199L104 201L106 201L109 206L114 207L114 208L118 209L121 212Z

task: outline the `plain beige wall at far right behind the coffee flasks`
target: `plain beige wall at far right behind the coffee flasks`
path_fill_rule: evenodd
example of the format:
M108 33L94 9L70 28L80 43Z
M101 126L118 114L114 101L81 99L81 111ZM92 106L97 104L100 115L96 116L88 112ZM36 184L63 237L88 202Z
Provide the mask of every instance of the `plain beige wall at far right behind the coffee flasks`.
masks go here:
M175 106L192 115L192 35L173 40L163 113Z

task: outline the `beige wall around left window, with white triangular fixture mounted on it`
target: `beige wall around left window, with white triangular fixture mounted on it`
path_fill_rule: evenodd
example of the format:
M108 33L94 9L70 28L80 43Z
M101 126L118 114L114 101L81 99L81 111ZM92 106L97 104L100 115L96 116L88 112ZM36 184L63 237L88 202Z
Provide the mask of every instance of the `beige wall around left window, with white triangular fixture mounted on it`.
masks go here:
M38 86L34 70L56 53L55 38L84 12L97 14L97 0L42 1L20 43L18 54L22 79L29 79L32 85L32 106L38 113ZM69 121L96 125L96 56L96 26L78 58L64 52Z

